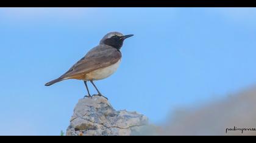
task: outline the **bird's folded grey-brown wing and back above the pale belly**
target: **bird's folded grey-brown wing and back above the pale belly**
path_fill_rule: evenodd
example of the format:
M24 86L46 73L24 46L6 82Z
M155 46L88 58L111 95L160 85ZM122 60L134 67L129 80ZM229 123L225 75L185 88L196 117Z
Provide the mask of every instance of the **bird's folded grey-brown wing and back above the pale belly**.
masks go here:
M80 59L60 78L72 78L73 76L85 75L90 71L108 67L121 59L121 52L107 45L98 45L91 49L84 58Z

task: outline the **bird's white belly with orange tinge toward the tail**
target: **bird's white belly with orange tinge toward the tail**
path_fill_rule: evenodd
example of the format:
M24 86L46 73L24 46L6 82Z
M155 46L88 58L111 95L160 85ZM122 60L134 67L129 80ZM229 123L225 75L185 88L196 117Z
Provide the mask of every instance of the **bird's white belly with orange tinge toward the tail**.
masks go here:
M107 78L108 76L115 73L115 71L119 67L120 62L121 62L121 59L119 59L119 61L113 65L110 65L110 66L104 67L104 68L99 68L98 70L91 71L90 73L87 73L85 77L88 81L89 80L100 80L100 79Z

